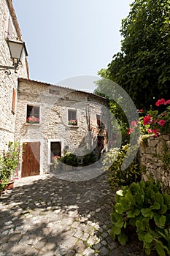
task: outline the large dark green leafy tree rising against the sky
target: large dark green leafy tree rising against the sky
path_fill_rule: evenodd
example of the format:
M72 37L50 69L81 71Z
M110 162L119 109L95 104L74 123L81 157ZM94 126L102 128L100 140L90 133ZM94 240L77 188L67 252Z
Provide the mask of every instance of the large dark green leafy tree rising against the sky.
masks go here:
M170 0L135 0L120 33L120 52L98 74L122 86L136 108L155 106L170 94Z

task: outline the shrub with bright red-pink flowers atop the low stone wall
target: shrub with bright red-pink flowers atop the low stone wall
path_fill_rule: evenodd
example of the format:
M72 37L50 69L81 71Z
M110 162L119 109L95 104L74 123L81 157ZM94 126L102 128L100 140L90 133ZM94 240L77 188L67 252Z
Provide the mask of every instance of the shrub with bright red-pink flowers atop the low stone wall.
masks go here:
M169 104L170 99L158 99L155 103L157 107L163 107ZM170 105L161 113L158 110L152 110L152 108L147 113L144 113L144 110L139 110L139 113L142 115L145 114L145 116L141 116L139 120L131 122L131 127L128 128L127 135L135 132L135 128L139 124L141 125L142 135L153 134L155 137L158 137L158 135L170 132Z

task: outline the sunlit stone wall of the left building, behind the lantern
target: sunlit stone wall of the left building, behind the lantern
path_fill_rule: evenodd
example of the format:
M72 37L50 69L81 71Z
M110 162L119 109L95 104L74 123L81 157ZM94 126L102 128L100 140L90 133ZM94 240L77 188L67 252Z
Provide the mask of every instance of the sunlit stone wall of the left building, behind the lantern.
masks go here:
M0 17L0 65L12 66L6 39L22 39L11 0L0 0ZM14 140L18 77L28 78L25 51L21 62L18 73L12 70L11 74L7 75L4 70L0 71L0 152L7 148L9 141ZM12 110L12 102L15 110Z

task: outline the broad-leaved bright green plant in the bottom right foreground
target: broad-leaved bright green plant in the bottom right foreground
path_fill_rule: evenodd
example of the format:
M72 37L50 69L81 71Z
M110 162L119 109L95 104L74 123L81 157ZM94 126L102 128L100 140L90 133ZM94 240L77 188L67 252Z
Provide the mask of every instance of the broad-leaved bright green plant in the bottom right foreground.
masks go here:
M170 255L170 195L162 194L161 184L153 179L116 192L111 222L111 236L120 244L126 244L128 228L134 227L147 255L151 250Z

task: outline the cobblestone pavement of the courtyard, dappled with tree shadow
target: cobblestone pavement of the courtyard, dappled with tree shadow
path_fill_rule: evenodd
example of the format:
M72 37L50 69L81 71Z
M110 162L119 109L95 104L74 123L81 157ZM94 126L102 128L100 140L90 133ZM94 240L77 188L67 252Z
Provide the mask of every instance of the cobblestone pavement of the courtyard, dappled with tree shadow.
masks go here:
M144 256L140 244L109 236L112 192L106 174L88 181L32 176L1 196L0 256Z

